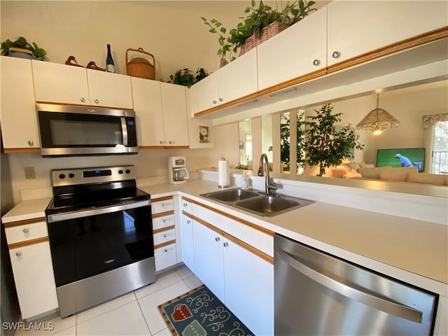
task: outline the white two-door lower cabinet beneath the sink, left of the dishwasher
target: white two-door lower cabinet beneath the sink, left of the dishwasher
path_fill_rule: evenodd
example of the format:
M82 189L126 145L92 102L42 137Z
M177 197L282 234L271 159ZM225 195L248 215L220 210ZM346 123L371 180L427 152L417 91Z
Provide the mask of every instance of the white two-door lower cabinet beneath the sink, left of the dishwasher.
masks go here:
M194 204L195 220L189 218L193 223L196 276L255 335L274 335L274 265L267 261L269 255L235 238L239 232L227 232L214 225L216 222L226 226L232 221L230 218L214 211L207 216L200 209L204 208ZM189 235L187 224L183 223L183 244ZM240 223L240 226L245 230L246 225ZM252 230L256 235L256 230ZM187 241L187 244L190 243ZM188 260L186 254L183 260Z

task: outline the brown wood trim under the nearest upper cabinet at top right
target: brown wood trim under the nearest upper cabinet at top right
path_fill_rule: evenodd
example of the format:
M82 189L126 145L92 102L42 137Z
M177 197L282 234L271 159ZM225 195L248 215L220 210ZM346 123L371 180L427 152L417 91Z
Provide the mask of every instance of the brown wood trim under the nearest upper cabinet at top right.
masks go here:
M364 62L371 61L372 59L377 59L379 57L384 57L387 55L391 55L395 52L400 52L409 48L414 48L419 45L423 45L425 43L433 42L440 40L442 38L448 37L448 26L442 27L440 29L435 29L433 31L428 31L424 34L420 34L417 36L413 36L411 38L407 38L403 41L396 42L390 45L386 45L384 47L372 50L370 52L365 52L362 55L358 55L356 57L346 59L337 64L333 64L328 66L328 73L333 73L342 69L349 68L350 66L358 65Z

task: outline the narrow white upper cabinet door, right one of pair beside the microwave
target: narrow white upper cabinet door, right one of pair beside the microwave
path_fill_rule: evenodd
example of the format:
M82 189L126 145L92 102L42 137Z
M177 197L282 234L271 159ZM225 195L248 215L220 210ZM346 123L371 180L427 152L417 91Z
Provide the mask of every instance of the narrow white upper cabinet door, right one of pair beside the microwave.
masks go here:
M188 146L186 87L160 83L160 92L162 94L165 146Z

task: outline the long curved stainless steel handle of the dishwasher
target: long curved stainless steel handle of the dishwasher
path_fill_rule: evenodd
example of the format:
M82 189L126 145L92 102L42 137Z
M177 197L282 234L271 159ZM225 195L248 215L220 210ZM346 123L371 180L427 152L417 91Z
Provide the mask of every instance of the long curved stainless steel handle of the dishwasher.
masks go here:
M298 272L309 277L309 279L320 283L322 286L325 286L326 288L339 293L340 295L344 295L345 297L349 297L352 300L356 300L358 302L366 304L367 306L384 311L388 314L393 314L395 316L405 318L409 321L413 321L416 323L421 323L422 321L422 311L390 300L385 300L370 293L365 293L363 290L348 286L345 283L341 283L335 279L332 279L330 276L321 274L311 267L304 265L303 262L295 259L293 255L290 255L286 251L279 250L277 251L277 253L285 262L288 263L288 265L295 268Z

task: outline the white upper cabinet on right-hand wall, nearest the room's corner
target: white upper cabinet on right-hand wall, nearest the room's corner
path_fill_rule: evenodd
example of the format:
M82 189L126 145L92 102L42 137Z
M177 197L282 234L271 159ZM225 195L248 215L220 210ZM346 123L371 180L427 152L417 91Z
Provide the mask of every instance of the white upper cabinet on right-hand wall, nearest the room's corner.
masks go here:
M190 88L192 112L231 106L256 97L257 92L257 50L253 48Z

